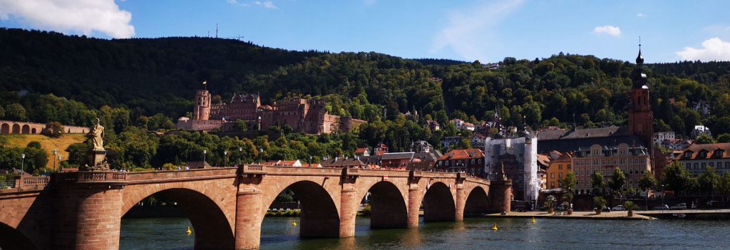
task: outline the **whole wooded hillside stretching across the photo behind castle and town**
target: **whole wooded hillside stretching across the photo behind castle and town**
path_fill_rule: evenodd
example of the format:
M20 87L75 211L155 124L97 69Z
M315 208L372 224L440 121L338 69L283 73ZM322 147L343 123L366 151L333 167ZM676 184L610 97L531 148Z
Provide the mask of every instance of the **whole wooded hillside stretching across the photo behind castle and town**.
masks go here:
M585 127L626 124L633 63L562 52L499 63L502 69L490 70L480 63L297 52L231 39L104 40L0 29L1 96L20 90L29 96L53 93L89 109L126 107L132 120L157 113L174 119L191 111L194 90L207 80L209 90L220 95L216 100L242 92L261 93L265 103L312 95L326 98L332 114L371 121L385 108L389 120L415 109L439 122L491 120L496 111L505 125L520 128L565 126L574 115ZM730 132L730 63L646 68L657 130L687 134L704 124L713 133ZM28 120L46 122L53 112L34 109L45 109L54 98L0 98L0 106L22 103ZM710 106L710 114L693 109L700 102Z

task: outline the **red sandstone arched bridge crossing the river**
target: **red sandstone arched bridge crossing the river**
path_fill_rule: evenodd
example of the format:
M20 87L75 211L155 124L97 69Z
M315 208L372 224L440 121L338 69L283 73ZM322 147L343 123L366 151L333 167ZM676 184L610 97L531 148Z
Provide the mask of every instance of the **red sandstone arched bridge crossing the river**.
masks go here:
M462 173L244 165L191 171L72 172L26 177L0 190L0 248L118 249L121 218L155 193L177 200L195 249L258 249L270 204L289 188L301 202L300 235L352 237L372 194L371 227L461 221L509 211L511 183Z

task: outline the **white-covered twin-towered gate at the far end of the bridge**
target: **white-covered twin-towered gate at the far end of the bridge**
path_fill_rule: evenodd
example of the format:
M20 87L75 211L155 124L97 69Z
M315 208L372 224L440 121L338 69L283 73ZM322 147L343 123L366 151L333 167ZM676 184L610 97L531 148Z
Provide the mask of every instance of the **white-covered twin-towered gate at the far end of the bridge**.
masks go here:
M484 172L496 178L502 171L512 179L512 192L521 200L537 200L542 186L537 176L537 137L491 138L484 143Z

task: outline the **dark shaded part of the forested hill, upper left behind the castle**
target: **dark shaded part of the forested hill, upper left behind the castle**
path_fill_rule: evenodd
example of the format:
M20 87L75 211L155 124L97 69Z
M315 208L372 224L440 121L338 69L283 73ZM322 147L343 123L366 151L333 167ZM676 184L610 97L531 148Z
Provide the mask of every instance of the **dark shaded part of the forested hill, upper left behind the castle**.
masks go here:
M180 114L204 80L214 93L320 52L260 47L232 39L90 39L0 29L0 91L54 93L93 107L126 104Z

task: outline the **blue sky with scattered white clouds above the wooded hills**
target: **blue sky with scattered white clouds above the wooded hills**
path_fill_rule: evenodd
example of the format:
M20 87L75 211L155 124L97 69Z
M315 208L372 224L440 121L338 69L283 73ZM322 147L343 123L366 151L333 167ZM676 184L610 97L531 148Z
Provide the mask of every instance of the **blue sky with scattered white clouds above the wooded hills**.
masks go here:
M730 1L0 0L0 26L112 38L215 36L266 47L499 62L559 52L730 60Z

